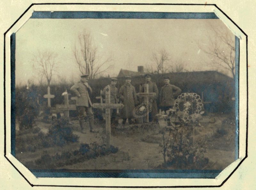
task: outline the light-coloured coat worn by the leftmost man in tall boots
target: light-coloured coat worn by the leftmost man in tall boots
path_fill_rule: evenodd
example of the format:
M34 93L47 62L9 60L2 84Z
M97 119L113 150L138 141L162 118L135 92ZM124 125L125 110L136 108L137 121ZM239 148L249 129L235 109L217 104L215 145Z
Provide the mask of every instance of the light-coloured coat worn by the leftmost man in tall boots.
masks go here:
M73 91L77 96L76 106L92 106L92 102L88 92L89 90L90 93L92 93L91 88L87 88L84 83L79 81L78 83L74 84L70 88L70 90Z

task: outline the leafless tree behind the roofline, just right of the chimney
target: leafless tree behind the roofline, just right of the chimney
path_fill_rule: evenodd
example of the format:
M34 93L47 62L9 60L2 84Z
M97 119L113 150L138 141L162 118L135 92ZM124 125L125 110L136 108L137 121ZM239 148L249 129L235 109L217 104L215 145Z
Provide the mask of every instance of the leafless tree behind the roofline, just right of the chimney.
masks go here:
M165 49L160 51L152 52L152 65L146 65L146 71L149 73L164 74L168 71L168 62L170 61L170 55Z

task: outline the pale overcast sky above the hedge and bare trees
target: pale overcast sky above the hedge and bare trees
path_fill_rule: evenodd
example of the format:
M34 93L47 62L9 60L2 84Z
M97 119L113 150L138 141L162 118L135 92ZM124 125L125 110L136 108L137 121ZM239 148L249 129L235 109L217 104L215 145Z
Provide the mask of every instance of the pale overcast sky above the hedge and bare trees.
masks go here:
M112 56L114 67L105 73L110 77L116 77L120 69L137 71L142 65L145 70L152 63L152 52L162 48L188 70L212 70L212 57L198 47L209 46L210 25L228 31L219 19L29 19L16 33L16 84L37 81L32 59L46 50L58 54L58 75L78 80L73 49L84 30L91 33L102 61Z

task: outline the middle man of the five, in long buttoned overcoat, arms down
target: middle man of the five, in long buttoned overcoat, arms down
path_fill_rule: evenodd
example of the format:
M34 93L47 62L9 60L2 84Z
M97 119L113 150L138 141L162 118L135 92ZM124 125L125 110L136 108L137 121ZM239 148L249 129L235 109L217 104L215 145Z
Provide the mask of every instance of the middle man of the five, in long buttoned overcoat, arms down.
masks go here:
M119 90L120 99L124 104L121 110L121 117L123 118L123 125L126 123L128 118L129 124L132 124L132 111L135 105L138 104L137 95L134 86L131 84L132 77L125 77L125 84L121 86Z

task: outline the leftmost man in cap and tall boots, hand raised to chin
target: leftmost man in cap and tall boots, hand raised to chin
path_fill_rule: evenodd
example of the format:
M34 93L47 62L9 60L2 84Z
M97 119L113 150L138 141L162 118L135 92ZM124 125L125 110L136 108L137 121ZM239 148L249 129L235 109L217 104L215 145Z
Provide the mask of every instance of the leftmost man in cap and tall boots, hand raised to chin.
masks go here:
M90 125L90 132L94 132L92 129L94 127L94 116L92 113L92 102L89 96L89 93L92 94L92 88L88 84L88 77L88 75L82 75L81 80L70 88L77 96L76 106L78 107L78 119L82 133L86 133L84 122L87 119Z

